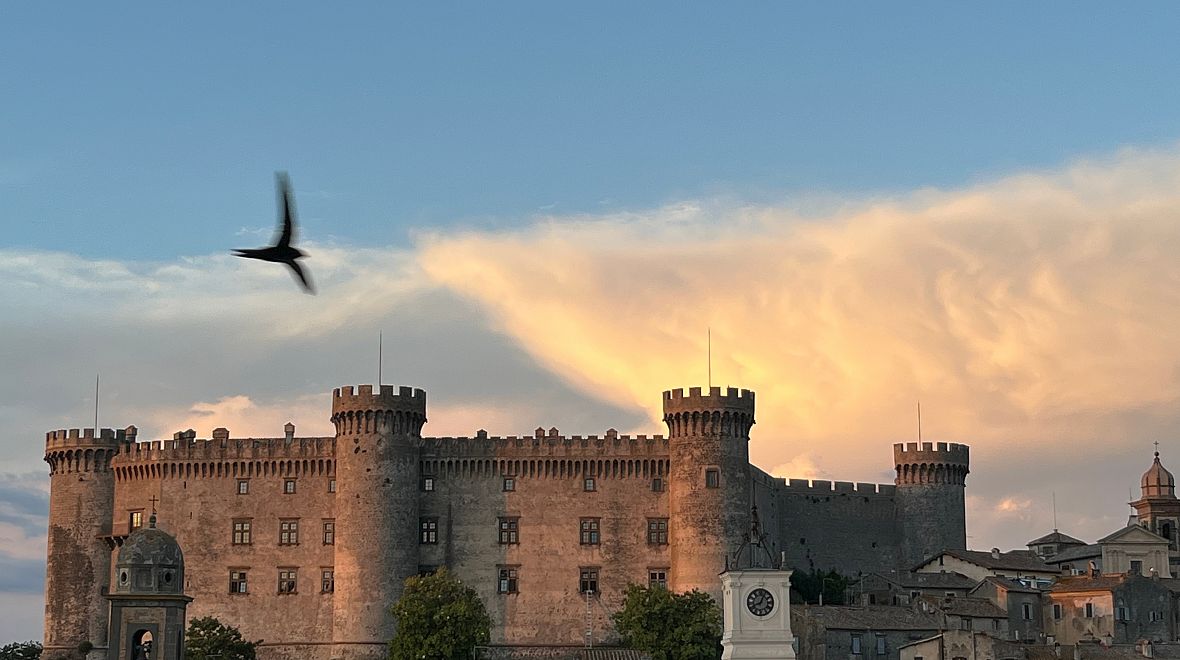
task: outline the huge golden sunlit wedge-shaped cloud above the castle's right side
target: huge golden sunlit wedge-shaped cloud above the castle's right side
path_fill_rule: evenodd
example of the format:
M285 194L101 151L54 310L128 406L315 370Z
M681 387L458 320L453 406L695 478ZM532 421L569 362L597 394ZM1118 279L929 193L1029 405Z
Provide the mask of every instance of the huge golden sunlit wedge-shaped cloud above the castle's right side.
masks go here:
M995 507L1017 514L1012 494L1094 463L1099 488L1063 502L1125 521L1122 485L1101 485L1134 483L1145 445L1180 434L1180 153L807 203L433 235L420 261L549 371L642 407L651 429L661 390L703 384L712 328L714 384L758 392L758 464L887 481L920 399L926 439L972 445L977 530ZM815 447L820 464L796 464ZM1049 524L1042 502L981 542L1023 543Z

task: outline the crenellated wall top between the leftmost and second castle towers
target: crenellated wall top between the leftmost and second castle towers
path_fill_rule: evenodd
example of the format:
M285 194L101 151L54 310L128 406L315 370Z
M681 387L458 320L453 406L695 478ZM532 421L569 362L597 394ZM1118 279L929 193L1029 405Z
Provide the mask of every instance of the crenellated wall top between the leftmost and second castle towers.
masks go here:
M335 438L172 439L135 443L116 456L112 465L160 460L253 460L271 458L333 458Z

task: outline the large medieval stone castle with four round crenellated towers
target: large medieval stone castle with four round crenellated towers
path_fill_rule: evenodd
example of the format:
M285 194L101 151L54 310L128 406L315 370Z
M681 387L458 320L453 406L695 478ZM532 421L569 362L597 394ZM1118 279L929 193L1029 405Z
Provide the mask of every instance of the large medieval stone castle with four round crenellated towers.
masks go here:
M263 639L268 660L385 658L402 580L444 566L479 592L493 643L609 642L628 583L717 596L754 505L801 570L966 545L965 445L893 445L893 484L788 481L749 464L748 390L667 391L663 420L431 438L422 390L361 385L333 392L334 437L50 432L46 653L106 656L112 554L153 511L184 548L189 616Z

